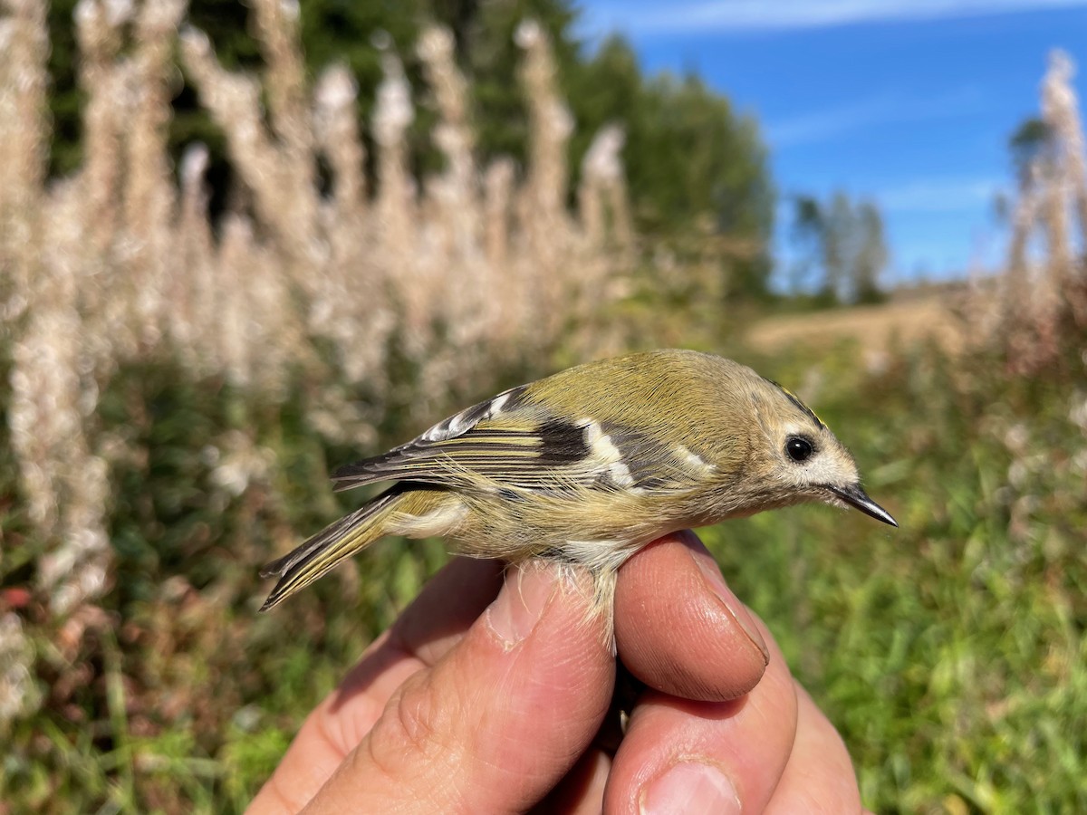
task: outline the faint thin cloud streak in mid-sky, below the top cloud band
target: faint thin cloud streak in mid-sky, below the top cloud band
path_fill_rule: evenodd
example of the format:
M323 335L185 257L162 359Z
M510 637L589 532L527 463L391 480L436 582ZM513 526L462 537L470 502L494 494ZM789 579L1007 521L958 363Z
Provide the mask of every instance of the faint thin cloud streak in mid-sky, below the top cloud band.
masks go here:
M980 93L969 87L929 98L903 98L885 93L838 108L769 122L764 129L772 147L795 147L824 141L873 125L925 122L973 114L980 110L982 104Z

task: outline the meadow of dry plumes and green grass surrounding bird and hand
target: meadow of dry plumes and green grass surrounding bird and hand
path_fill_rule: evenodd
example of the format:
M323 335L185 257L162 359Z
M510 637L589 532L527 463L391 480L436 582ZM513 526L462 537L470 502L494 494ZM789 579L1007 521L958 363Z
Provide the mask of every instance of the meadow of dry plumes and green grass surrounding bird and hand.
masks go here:
M261 565L359 504L328 473L501 388L664 343L795 390L899 521L802 506L701 534L838 727L865 805L1087 812L1074 97L1047 109L1065 152L1024 186L999 279L950 306L762 302L734 322L725 296L688 312L698 298L675 294L721 253L665 258L639 233L615 129L582 134L569 172L541 26L515 34L521 164L479 159L452 36L422 33L427 171L388 43L360 123L350 72L305 71L289 4L251 3L255 73L224 66L180 0L111 8L78 5L83 148L64 174L45 11L0 16L0 814L241 812L447 559L383 541L259 614ZM217 211L209 150L171 158L178 65L241 190ZM1028 256L1032 230L1047 241Z

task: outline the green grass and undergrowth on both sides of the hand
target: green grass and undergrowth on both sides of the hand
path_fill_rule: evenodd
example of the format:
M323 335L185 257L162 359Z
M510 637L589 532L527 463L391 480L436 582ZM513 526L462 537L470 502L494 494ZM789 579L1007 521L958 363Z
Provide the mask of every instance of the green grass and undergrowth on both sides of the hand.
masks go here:
M804 506L703 538L841 730L871 808L1087 811L1087 438L1070 418L1087 381L1067 373L1082 367L1024 380L920 350L869 376L857 360L752 362L796 389L821 383L803 394L901 528ZM42 703L0 734L11 812L241 811L301 717L443 562L439 541L386 541L290 614L257 614L258 566L348 505L324 473L365 452L307 426L305 387L266 405L163 363L105 391L103 429L138 453L112 465L114 581L74 641L41 598L18 612ZM386 440L415 429L393 422ZM232 430L279 462L239 497L201 452ZM42 543L0 451L0 585L33 585Z

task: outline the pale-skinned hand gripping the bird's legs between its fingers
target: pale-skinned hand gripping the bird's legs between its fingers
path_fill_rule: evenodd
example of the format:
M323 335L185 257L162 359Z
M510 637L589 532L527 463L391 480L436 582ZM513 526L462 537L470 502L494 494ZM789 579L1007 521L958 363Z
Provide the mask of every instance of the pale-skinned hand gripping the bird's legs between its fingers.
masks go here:
M863 813L837 731L691 532L620 570L648 686L617 751L588 577L457 559L307 718L250 813ZM767 662L769 657L769 662Z

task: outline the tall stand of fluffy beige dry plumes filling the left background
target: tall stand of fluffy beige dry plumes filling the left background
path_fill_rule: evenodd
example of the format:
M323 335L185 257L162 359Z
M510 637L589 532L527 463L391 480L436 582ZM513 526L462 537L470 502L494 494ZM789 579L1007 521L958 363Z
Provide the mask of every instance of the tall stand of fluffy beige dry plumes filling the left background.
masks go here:
M577 190L580 213L569 212L572 122L535 24L517 35L532 117L523 174L509 160L478 165L466 80L450 35L435 28L418 51L445 167L421 181L409 171L414 102L386 48L367 189L354 80L333 65L310 86L297 3L253 1L260 76L224 70L208 37L183 25L185 11L184 0L78 4L84 160L55 179L46 177L43 4L5 0L0 17L9 421L29 518L51 541L36 573L57 615L92 603L109 584L103 450L124 453L100 438L96 410L121 364L170 356L196 377L272 401L284 397L286 373L307 366L322 383L310 421L359 443L389 396L392 344L417 365L411 403L428 415L450 387L472 390L496 366L566 342L572 326L596 319L629 266L622 140L601 134ZM166 149L178 45L241 179L218 225L208 212L207 149L188 149L177 181ZM583 331L573 344L588 352L599 336ZM336 359L321 356L321 343ZM373 396L370 413L346 397L357 384ZM224 444L224 489L245 489L274 467L245 434ZM26 649L17 618L2 620L0 639L0 715L13 715L33 704L18 681Z

